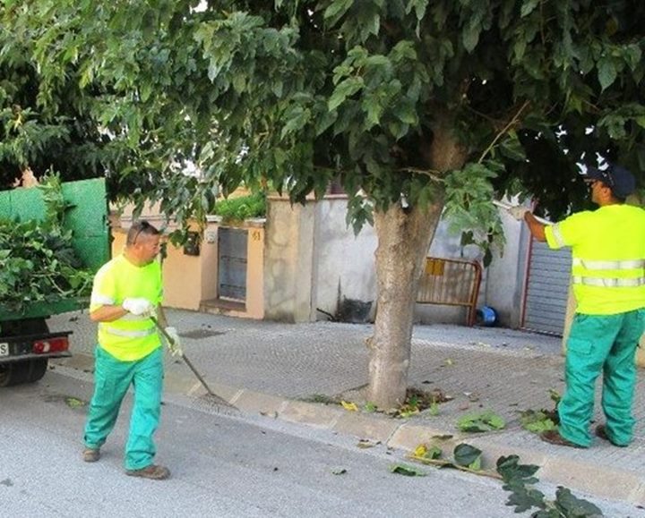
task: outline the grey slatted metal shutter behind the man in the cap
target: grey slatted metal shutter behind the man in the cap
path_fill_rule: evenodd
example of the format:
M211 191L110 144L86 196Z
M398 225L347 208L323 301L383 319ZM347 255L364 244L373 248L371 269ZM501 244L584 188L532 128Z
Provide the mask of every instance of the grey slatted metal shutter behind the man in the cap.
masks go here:
M522 327L562 335L571 281L570 248L551 250L532 240Z

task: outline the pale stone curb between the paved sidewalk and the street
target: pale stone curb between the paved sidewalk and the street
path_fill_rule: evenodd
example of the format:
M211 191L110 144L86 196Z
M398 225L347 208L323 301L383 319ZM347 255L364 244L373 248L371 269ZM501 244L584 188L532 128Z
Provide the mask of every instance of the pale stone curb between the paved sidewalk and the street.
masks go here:
M73 361L56 365L61 374L87 378L92 375L87 367L92 361L89 355L76 354ZM204 387L192 377L166 371L166 391L202 399L207 395ZM645 474L639 471L621 470L600 463L590 463L573 458L569 448L551 446L525 430L506 430L490 434L465 434L452 429L433 428L415 421L401 421L379 414L348 412L340 407L324 403L308 403L282 396L254 392L245 388L208 381L211 390L242 413L260 414L264 417L304 424L318 429L328 429L340 434L380 442L384 446L413 452L422 443L436 442L436 436L451 436L440 439L443 450L452 452L454 446L468 442L482 451L482 466L495 470L496 460L503 455L516 454L521 463L538 465L537 478L553 485L562 485L593 497L621 500L632 505L645 506ZM223 414L226 409L221 406ZM510 439L525 444L538 441L537 448L511 444Z

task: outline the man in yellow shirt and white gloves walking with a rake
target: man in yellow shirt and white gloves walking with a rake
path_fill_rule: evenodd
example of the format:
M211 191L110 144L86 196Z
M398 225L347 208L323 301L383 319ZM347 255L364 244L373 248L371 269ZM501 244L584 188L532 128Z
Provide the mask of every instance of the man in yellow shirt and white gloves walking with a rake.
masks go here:
M152 440L159 426L163 380L161 338L150 316L166 326L161 310L160 234L146 221L133 223L125 251L107 262L94 278L90 318L99 323L95 351L94 395L85 425L83 460L100 458L100 447L114 429L123 398L133 386L133 410L125 446L125 472L135 477L163 480L165 466L152 463ZM166 327L178 347L178 335Z

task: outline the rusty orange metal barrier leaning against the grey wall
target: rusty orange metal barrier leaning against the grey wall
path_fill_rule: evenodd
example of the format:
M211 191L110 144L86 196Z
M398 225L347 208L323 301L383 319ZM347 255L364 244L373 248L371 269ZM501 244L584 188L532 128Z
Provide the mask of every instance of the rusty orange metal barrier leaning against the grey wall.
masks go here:
M482 267L476 261L428 257L419 280L417 303L466 306L466 324L472 326L481 277Z

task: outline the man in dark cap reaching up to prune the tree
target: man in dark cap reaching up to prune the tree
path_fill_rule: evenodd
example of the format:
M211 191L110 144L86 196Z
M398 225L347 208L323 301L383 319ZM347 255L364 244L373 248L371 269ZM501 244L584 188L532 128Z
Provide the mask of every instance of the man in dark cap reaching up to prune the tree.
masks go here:
M645 330L645 210L625 205L636 184L623 167L590 167L585 181L599 208L555 225L539 223L527 208L509 208L549 248L572 247L577 307L567 340L566 389L557 408L558 429L541 438L559 446L591 445L594 387L603 373L606 424L596 427L596 435L627 446L634 426L634 356Z

